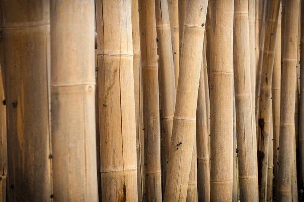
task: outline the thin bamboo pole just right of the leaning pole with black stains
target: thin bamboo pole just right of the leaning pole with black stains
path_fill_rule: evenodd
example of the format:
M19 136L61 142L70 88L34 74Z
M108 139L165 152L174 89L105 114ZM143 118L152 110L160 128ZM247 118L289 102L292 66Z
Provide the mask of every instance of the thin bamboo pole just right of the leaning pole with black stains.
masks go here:
M275 60L272 79L272 113L273 113L273 164L275 174L275 185L279 177L279 137L280 137L280 103L281 103L281 6L277 28L277 39L275 45ZM277 186L276 186L277 188ZM275 190L274 190L275 191Z

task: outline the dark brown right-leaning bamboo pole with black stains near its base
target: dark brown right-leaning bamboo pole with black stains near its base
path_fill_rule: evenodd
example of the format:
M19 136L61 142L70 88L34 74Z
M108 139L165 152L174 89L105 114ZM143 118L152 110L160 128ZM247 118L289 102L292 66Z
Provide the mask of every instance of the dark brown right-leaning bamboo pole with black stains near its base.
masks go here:
M269 1L267 5L267 19L265 23L265 42L260 77L260 99L258 116L258 178L259 178L259 200L264 201L267 189L268 147L270 131L270 103L271 84L274 64L274 50L277 34L280 0ZM261 57L261 56L260 56ZM261 58L260 58L261 59ZM258 84L257 84L258 85ZM257 95L258 96L258 95ZM258 100L257 100L258 102Z

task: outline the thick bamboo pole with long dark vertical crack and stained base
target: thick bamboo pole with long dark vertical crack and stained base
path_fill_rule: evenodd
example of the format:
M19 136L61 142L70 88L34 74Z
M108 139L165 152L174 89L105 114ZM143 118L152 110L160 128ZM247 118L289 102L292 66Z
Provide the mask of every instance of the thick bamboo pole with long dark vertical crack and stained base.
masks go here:
M97 1L103 201L138 198L131 8L131 0Z

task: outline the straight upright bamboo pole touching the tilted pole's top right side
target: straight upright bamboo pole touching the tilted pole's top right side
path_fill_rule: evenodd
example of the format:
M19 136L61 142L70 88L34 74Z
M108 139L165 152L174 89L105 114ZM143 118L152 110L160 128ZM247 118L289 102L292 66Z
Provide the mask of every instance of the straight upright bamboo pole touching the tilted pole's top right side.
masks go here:
M230 201L233 177L234 1L212 0L210 3L212 5L210 69L211 201ZM217 57L219 55L221 57Z

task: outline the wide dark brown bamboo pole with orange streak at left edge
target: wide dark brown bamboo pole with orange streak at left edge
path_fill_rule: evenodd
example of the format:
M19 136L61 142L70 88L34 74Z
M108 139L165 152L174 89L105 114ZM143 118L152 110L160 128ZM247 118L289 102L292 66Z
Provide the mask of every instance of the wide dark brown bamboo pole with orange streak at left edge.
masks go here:
M1 175L6 174L8 168L7 199L50 201L50 3L0 1L0 4L4 48L1 69L5 72L2 76L9 137L8 165L3 158ZM2 149L4 151L5 146ZM5 152L1 157L3 155ZM5 183L5 177L1 184Z

